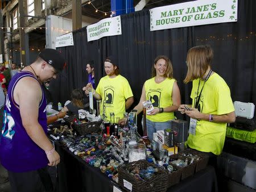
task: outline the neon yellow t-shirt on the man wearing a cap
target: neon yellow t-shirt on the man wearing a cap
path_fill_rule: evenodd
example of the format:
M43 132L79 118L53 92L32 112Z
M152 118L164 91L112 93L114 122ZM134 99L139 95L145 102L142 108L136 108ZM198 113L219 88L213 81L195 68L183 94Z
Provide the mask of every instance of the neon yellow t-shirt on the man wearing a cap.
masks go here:
M129 97L133 97L133 91L125 77L118 75L115 78L109 76L102 77L97 89L102 101L105 101L107 119L110 121L110 112L114 112L115 118L123 118L125 112L125 102ZM101 102L101 116L103 112L103 102ZM116 119L115 119L116 120Z

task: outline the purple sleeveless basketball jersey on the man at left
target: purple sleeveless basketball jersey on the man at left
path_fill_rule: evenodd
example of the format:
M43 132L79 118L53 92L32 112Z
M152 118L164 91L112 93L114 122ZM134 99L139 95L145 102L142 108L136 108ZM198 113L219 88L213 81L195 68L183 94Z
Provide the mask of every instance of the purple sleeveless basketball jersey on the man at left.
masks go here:
M35 78L30 72L20 72L11 78L3 114L0 160L1 164L11 172L28 172L46 167L48 164L46 153L27 135L22 125L19 105L14 101L14 87L23 77ZM38 122L47 133L46 97L44 97L43 89L42 100L39 103Z

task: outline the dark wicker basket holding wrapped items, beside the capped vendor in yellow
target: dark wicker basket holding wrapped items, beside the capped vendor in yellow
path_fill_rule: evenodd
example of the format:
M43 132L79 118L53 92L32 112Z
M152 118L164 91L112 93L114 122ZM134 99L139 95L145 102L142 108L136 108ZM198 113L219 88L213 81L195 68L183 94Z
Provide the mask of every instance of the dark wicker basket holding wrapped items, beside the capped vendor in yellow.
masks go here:
M78 118L78 115L72 115L68 118L65 118L65 120L69 123L72 123L75 118ZM101 123L100 122L87 122L87 123L73 123L72 128L76 130L80 135L86 135L93 132L99 132L101 131Z

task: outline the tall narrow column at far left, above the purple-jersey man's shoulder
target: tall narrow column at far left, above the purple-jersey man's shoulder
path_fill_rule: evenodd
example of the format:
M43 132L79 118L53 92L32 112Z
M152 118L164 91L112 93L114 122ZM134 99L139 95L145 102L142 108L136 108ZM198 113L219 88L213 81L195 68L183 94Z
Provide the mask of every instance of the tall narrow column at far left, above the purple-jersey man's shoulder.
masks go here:
M23 0L19 0L19 27L25 26ZM20 65L27 65L25 51L25 30L19 28Z

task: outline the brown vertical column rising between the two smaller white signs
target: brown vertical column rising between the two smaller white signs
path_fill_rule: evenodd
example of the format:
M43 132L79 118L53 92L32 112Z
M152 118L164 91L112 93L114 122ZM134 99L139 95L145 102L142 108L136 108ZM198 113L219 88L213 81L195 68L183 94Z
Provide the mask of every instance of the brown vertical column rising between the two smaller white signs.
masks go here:
M73 31L82 28L82 1L72 0L72 28Z

